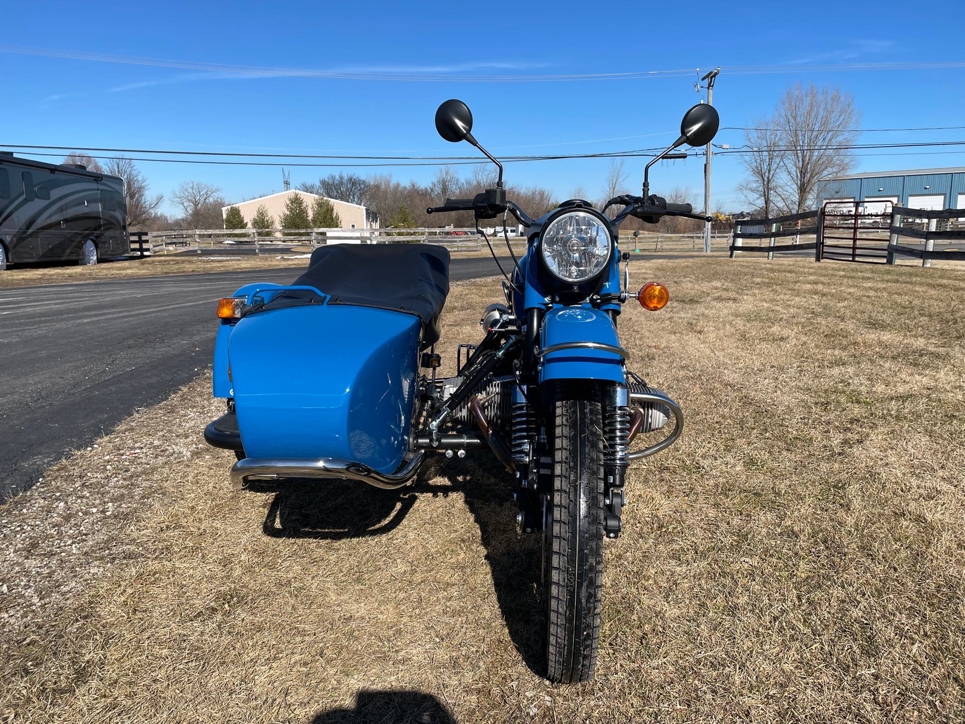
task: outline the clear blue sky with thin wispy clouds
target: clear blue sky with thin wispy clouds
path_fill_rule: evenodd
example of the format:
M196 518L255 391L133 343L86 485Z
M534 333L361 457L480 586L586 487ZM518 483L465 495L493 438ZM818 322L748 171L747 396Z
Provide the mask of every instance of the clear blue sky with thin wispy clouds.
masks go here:
M3 42L68 54L176 60L180 66L375 75L566 75L724 66L714 105L725 126L753 124L797 81L840 86L855 97L866 128L965 125L961 69L726 70L960 62L965 52L958 24L936 19L959 16L960 0L929 3L920 20L906 2L864 7L693 2L685 18L673 16L673 4L663 6L667 14L648 13L647 7L628 3L623 10L615 5L595 13L585 2L5 3L8 32ZM494 16L481 25L486 8ZM499 12L502 18L496 17ZM5 101L0 143L470 155L468 145L442 141L432 124L440 101L460 97L473 110L474 134L497 156L620 151L674 140L683 111L700 98L694 91L697 78L695 71L629 80L413 82L253 75L0 52L0 97ZM864 133L861 142L959 140L965 140L965 129ZM739 146L743 133L722 130L717 142ZM859 152L858 170L965 165L965 146L940 149L950 150L956 153ZM638 187L645 163L627 159L631 189ZM507 180L544 185L560 198L582 186L596 198L608 164L605 159L510 164ZM274 167L140 166L152 191L166 196L187 180L220 186L229 201L282 185L281 171ZM288 168L294 184L340 170ZM434 168L421 167L353 170L391 172L400 181L429 181L435 174ZM718 202L727 209L744 206L735 192L742 176L739 155L715 156L715 207ZM662 164L651 171L650 181L656 192L690 186L703 198L703 159ZM175 209L166 204L165 210Z

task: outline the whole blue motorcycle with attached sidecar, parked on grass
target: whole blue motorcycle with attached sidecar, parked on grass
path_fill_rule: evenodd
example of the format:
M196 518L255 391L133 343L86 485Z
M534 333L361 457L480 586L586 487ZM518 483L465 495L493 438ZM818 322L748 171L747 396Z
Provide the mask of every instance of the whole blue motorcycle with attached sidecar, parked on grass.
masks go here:
M502 216L504 235L512 214L528 237L519 259L506 238L513 265L509 274L500 266L505 300L485 308L483 339L464 358L460 349L455 376L437 376L445 248L320 247L294 284L249 284L218 302L213 386L227 411L205 437L235 451L236 487L349 480L394 489L412 483L430 455L492 454L506 467L520 530L542 538L546 677L586 681L596 662L603 542L620 535L627 468L683 429L680 407L629 369L620 346L621 305L633 298L656 311L669 292L652 282L629 291L617 230L629 216L709 220L650 195L648 172L685 143L709 143L719 118L709 105L691 108L676 142L648 163L641 196L618 196L602 210L573 199L538 219L507 199L502 164L473 137L465 103L442 103L435 125L447 141L484 153L499 181L427 210L472 211L477 226ZM611 206L622 207L612 219ZM671 432L631 450L638 434L671 420Z

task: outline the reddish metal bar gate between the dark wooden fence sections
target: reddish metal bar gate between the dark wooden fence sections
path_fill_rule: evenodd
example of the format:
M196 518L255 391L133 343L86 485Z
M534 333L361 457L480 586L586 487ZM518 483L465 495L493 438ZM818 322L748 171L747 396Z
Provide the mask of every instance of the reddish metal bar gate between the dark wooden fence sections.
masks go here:
M881 205L881 211L863 204ZM892 228L890 201L826 201L821 207L820 259L886 264Z

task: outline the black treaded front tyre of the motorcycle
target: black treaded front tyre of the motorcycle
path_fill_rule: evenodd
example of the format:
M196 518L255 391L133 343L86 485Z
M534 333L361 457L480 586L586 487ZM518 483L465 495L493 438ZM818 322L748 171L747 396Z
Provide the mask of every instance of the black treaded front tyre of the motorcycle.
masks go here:
M546 677L593 678L603 583L603 427L600 404L556 403L553 490L544 535Z

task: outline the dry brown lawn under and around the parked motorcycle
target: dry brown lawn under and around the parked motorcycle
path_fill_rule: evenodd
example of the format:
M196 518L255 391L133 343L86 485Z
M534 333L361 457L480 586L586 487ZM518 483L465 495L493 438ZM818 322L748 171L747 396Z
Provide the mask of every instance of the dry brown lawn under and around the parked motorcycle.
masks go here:
M627 307L623 342L688 420L675 448L632 472L625 534L607 545L593 682L534 671L538 541L517 535L490 461L433 463L398 495L237 493L232 456L199 442L219 412L202 379L101 440L120 455L142 419L163 419L171 444L153 466L98 483L148 480L159 503L118 526L113 544L136 557L8 639L0 711L962 720L965 277L763 260L655 261L634 277L659 278L673 299L659 314ZM494 280L457 285L443 340L473 339L498 295ZM69 459L0 517L24 524L24 500L54 505L97 465ZM52 560L69 543L50 536Z

